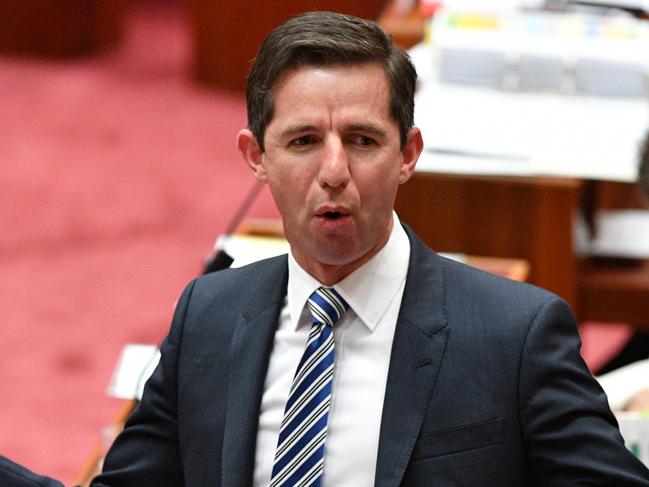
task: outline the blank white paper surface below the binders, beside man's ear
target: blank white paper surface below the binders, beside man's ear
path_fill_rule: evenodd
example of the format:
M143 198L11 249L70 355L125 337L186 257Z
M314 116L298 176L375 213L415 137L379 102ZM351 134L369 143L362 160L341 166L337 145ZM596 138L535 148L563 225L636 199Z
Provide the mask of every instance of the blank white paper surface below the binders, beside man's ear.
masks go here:
M415 106L425 146L417 167L422 171L633 182L649 130L645 99L429 82L417 94ZM458 155L448 155L452 152Z

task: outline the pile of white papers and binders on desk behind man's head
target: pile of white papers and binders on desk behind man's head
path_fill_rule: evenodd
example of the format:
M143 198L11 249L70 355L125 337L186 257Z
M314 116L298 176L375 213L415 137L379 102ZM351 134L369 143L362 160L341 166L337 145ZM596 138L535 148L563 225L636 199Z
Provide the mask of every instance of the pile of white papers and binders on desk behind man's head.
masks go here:
M462 16L436 20L432 42L410 51L425 145L418 171L637 179L649 132L648 61L638 47L649 46L649 27L579 16L467 19L464 30Z

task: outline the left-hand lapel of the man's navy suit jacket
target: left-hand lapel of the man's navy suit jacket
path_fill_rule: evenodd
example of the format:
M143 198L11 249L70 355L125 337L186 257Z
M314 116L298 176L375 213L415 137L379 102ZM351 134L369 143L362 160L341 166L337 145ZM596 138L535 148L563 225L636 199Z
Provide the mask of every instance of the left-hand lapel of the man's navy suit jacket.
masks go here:
M230 345L221 485L249 487L255 465L259 407L277 321L286 295L286 258L266 274L255 302L241 313ZM283 272L283 274L282 274ZM251 283L251 285L253 285Z

